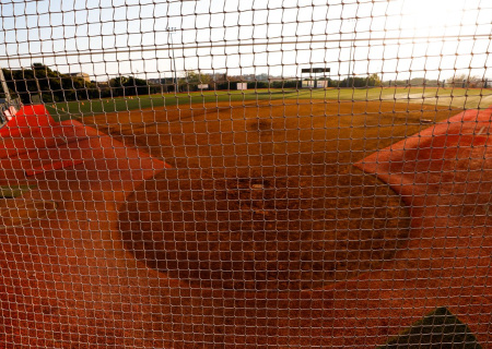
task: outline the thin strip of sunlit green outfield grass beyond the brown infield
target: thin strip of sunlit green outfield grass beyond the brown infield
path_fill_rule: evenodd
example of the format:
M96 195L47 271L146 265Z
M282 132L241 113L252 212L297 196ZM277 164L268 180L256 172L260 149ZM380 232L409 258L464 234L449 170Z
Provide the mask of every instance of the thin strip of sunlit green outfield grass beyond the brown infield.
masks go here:
M58 120L83 118L104 112L141 110L168 106L190 106L219 101L271 100L276 104L295 104L296 99L324 100L383 100L396 103L426 104L454 109L487 108L492 105L491 89L465 88L333 88L333 89L258 89L212 91L181 94L117 97L69 103L46 104L50 115Z

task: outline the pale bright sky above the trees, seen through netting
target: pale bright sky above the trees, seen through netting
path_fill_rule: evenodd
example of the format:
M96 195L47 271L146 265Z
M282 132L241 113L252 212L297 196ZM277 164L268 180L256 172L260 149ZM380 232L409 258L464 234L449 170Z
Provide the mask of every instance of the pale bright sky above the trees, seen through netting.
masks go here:
M0 0L0 65L106 81L229 75L490 76L490 0ZM175 28L169 32L168 28Z

